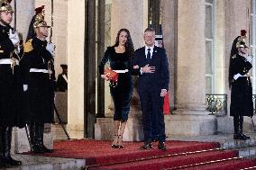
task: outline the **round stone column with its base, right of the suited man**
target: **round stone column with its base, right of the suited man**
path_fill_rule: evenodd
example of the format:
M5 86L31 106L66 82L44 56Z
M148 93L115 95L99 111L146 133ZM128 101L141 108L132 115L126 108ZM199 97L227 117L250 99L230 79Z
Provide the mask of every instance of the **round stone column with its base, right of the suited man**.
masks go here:
M167 134L216 132L215 116L206 112L205 16L205 0L178 0L177 111Z

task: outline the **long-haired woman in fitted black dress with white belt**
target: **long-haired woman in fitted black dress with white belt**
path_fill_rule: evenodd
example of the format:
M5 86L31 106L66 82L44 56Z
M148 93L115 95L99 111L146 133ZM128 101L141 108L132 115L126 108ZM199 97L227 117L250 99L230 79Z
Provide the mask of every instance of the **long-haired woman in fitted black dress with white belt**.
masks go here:
M105 80L109 77L104 73L105 63L119 74L117 85L110 84L110 94L114 101L114 139L112 148L123 148L123 131L130 112L130 101L133 94L132 75L130 74L130 61L133 56L133 41L127 29L117 33L115 44L105 50L105 56L99 65L99 73Z

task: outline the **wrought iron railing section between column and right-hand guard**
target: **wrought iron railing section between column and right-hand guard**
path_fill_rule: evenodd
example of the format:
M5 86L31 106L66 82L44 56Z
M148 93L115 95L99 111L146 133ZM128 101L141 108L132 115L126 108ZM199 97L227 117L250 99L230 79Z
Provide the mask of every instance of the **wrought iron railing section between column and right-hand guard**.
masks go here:
M227 94L206 94L206 106L206 110L210 112L210 114L226 114Z

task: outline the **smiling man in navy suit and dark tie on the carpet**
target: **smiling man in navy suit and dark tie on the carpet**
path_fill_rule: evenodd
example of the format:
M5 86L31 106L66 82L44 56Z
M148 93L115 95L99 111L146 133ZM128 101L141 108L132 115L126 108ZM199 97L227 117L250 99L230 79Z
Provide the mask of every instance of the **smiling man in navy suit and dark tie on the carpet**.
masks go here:
M141 149L152 148L151 124L156 124L158 148L166 150L163 97L169 87L169 64L165 49L154 46L154 29L147 28L144 31L144 40L145 47L137 49L132 60L133 75L139 75L138 92L144 131L144 145Z

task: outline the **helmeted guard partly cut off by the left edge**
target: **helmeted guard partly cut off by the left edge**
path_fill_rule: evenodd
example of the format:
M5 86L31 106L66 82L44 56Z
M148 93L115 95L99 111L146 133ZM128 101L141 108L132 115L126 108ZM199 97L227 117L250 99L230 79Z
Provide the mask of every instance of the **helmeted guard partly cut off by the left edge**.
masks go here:
M19 69L19 33L10 26L14 10L11 0L0 0L0 129L1 166L19 166L11 157L13 127L24 127L22 117L23 85ZM22 119L21 119L22 120Z

